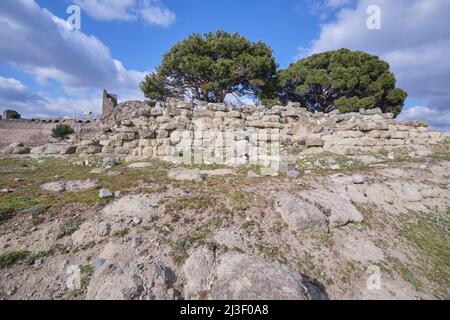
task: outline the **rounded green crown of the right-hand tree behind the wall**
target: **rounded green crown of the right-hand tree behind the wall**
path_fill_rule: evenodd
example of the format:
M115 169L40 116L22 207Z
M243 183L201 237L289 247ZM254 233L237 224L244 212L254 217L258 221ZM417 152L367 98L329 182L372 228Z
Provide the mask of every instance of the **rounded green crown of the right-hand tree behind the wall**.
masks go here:
M310 111L354 112L381 108L398 115L406 92L395 88L389 64L362 51L340 49L312 55L279 72L280 99Z

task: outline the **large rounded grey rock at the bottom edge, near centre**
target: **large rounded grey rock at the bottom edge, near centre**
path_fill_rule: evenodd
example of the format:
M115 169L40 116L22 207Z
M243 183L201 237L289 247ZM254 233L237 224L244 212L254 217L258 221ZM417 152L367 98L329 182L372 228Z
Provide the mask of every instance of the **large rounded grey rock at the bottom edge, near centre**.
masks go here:
M254 255L225 253L215 259L212 252L200 249L183 269L185 299L311 299L300 273Z

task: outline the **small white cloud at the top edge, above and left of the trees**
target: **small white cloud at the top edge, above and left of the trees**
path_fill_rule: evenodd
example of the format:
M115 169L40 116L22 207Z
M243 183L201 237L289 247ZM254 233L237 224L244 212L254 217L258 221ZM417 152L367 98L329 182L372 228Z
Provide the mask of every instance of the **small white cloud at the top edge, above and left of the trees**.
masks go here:
M176 15L159 0L77 0L84 12L103 21L143 21L162 27L172 25Z

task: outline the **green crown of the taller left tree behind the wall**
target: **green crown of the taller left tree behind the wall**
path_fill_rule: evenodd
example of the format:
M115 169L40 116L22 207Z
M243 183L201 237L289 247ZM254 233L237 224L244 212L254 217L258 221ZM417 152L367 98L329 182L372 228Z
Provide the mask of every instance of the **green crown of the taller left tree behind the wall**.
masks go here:
M222 102L227 94L269 95L276 87L272 50L224 31L193 34L176 44L141 83L152 100L190 96Z

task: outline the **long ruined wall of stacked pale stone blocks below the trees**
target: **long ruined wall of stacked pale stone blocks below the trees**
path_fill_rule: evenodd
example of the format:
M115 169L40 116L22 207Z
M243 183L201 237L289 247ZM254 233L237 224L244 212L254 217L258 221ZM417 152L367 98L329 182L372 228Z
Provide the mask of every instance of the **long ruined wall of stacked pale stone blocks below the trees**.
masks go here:
M171 98L154 106L140 101L121 103L103 118L101 131L94 139L81 141L78 153L177 162L203 152L203 163L221 163L225 158L225 164L267 165L268 157L277 152L289 159L289 149L295 146L304 154L356 155L402 149L423 155L429 145L449 137L429 130L424 121L401 122L379 109L313 114L295 104L238 108ZM227 148L230 141L234 150ZM221 145L225 147L217 147ZM255 146L264 149L256 151L261 155L256 160L252 157ZM264 157L267 150L269 155Z

